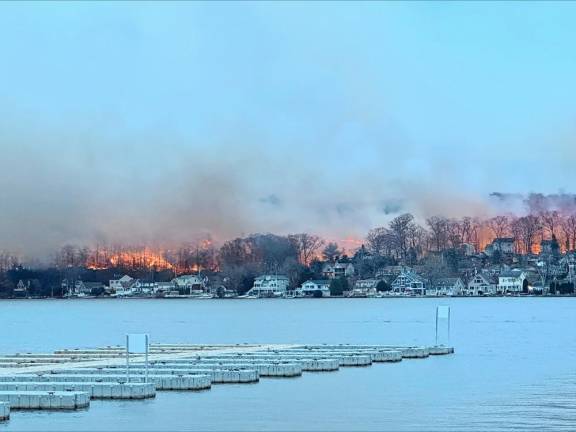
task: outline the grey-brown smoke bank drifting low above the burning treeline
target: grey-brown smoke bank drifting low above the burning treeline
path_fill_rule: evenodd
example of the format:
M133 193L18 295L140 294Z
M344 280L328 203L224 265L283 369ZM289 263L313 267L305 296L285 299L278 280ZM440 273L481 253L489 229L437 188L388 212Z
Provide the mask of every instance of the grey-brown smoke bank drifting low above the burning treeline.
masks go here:
M493 201L508 206L524 199L485 199L447 176L427 174L445 164L406 175L393 165L377 169L388 160L379 151L365 166L359 157L343 170L347 160L322 163L244 132L231 134L242 140L204 144L147 134L3 130L0 250L40 259L65 244L171 246L254 232L361 239L403 212L422 223L436 214L485 217L498 209ZM413 165L401 156L397 163ZM545 200L570 202L564 195Z

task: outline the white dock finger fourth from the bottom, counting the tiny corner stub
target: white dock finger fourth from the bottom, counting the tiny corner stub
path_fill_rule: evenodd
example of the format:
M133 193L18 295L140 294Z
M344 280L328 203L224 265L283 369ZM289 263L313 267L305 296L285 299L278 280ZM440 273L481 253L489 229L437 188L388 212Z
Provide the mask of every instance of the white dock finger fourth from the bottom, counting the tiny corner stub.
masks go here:
M144 375L131 374L130 383L143 383ZM0 382L115 382L125 383L126 374L44 374L44 375L0 375ZM149 375L148 382L156 390L205 390L211 387L210 375Z

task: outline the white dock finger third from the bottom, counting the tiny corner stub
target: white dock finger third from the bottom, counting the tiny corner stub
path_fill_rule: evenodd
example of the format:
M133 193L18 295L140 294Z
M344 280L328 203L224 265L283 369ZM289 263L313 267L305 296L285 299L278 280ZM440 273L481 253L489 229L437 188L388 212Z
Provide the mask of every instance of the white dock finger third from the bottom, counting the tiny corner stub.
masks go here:
M153 383L3 382L0 391L86 392L92 399L147 399L156 396Z

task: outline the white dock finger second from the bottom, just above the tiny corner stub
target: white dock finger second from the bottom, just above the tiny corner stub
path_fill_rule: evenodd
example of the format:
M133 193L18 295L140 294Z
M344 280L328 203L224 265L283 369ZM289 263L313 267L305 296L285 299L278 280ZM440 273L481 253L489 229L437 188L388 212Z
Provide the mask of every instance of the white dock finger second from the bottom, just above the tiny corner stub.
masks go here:
M90 405L86 392L59 391L0 391L0 401L10 409L73 410Z

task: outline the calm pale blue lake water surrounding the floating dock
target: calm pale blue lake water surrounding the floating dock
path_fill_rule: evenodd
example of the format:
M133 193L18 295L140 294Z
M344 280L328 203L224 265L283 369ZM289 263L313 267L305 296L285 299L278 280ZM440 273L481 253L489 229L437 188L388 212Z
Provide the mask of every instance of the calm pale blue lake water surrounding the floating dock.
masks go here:
M1 301L0 352L156 342L434 342L452 356L304 373L88 410L14 412L1 431L576 430L576 298Z

